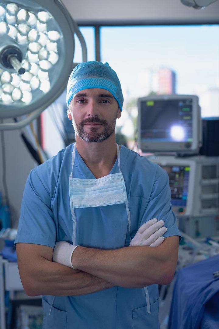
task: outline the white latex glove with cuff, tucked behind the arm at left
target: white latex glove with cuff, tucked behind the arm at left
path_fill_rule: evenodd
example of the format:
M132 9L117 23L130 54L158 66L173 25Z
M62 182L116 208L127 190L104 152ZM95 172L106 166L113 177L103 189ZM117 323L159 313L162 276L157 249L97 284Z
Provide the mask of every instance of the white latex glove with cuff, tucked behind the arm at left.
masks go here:
M72 254L77 246L67 242L67 241L58 241L55 243L53 250L53 262L72 267Z

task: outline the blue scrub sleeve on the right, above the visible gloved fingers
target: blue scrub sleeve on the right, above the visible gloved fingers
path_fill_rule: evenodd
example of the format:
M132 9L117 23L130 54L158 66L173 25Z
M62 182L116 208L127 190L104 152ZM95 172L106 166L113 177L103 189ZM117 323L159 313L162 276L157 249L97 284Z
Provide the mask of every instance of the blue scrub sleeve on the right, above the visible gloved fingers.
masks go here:
M178 235L181 241L182 237L177 227L176 215L172 211L170 199L169 178L168 174L164 171L154 182L148 204L141 218L140 226L152 218L164 220L164 225L167 228L164 238Z

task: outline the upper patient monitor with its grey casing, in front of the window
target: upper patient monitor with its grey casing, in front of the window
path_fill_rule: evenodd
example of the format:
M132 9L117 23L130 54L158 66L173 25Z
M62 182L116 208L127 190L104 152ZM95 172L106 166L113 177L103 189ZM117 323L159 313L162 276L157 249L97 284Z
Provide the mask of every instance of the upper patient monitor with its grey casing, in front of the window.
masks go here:
M200 108L195 95L151 95L138 100L138 144L142 152L197 154Z

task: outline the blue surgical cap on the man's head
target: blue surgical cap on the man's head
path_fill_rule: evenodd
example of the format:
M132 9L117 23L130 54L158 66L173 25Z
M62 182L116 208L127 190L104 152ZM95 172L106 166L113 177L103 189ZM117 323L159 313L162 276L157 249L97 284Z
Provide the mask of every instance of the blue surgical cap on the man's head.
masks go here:
M122 111L123 95L119 78L108 63L97 61L78 64L72 71L67 86L66 102L69 104L73 96L80 90L101 88L111 92Z

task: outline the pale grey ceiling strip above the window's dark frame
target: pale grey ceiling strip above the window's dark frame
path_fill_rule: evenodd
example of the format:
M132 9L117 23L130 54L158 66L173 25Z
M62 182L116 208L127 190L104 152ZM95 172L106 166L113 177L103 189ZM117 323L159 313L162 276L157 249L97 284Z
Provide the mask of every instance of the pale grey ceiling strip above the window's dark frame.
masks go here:
M197 10L180 0L62 0L77 23L219 23L219 1Z

